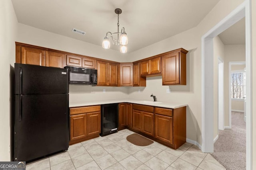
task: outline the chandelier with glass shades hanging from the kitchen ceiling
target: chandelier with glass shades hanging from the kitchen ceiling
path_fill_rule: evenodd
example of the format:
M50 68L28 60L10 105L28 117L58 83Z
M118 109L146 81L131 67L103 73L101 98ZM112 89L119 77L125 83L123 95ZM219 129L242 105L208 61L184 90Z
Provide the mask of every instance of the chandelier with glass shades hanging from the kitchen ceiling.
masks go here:
M110 41L108 38L108 34L110 34L113 44L118 45L120 47L121 53L126 53L128 37L127 37L126 32L124 31L124 27L122 27L121 32L119 32L119 14L122 13L122 10L120 8L116 8L115 13L118 15L117 16L117 32L116 33L107 32L106 37L104 37L104 40L102 42L102 47L104 49L110 48Z

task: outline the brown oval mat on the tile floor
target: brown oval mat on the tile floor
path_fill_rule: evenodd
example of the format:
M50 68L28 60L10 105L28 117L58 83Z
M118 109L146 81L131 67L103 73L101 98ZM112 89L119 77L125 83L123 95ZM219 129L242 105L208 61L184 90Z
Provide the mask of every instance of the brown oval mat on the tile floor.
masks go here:
M151 141L141 135L138 135L137 133L133 133L132 135L127 136L126 140L134 145L142 146L142 147L148 146L148 145L154 143L153 141Z

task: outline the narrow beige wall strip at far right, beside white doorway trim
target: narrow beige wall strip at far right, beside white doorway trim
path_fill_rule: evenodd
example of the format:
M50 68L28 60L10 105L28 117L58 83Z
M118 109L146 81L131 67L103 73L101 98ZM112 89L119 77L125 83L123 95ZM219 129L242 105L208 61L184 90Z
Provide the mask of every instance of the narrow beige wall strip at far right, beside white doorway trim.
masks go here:
M256 169L256 0L252 0L252 169ZM253 88L254 87L254 88Z

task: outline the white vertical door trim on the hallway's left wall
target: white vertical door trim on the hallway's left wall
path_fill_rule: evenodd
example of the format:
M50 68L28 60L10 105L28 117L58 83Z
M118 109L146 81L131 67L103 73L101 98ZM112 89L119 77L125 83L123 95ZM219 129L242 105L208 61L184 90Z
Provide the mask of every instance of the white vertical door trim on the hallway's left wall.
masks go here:
M218 58L218 130L224 130L224 63ZM219 131L218 131L219 134Z

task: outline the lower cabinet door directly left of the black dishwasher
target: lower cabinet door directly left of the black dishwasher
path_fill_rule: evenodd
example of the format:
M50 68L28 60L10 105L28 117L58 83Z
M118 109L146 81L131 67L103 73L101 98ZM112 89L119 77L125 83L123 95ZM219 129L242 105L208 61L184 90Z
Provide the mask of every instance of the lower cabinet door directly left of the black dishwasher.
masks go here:
M100 112L87 113L87 135L100 134Z

